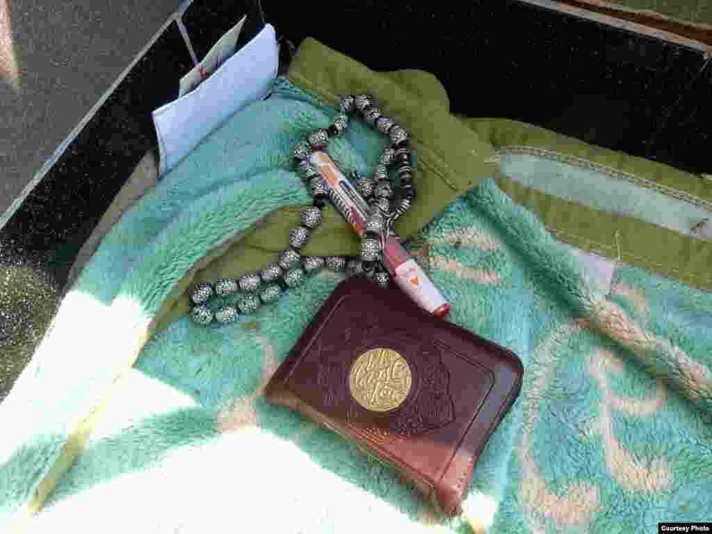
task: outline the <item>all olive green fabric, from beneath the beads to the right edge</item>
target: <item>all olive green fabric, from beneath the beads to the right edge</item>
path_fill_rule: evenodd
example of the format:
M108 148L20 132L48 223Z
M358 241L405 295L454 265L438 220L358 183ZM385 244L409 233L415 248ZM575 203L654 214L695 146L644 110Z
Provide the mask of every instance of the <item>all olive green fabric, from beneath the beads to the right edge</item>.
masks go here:
M476 187L479 180L493 177L515 202L538 214L562 241L696 288L712 289L708 276L712 244L522 187L501 176L498 155L520 152L553 157L672 197L703 202L712 202L710 180L522 122L457 117L449 112L447 93L433 75L420 70L377 73L313 38L301 44L288 79L330 105L336 105L345 94L370 93L384 113L411 132L419 167L414 179L419 195L412 211L397 224L396 230L404 239L417 234L460 194ZM241 276L274 261L288 246L288 230L298 224L300 209L276 211L246 239L221 246L194 266L172 298L164 302L157 329L187 313L187 289L192 283ZM328 256L358 251L354 232L340 214L327 208L323 225L303 252Z

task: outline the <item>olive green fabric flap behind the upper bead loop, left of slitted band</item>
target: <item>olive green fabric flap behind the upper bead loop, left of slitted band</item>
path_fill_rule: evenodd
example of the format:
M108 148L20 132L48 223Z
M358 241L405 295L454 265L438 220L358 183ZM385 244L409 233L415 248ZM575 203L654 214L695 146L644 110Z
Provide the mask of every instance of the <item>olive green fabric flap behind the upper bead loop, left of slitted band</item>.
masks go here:
M348 93L370 93L386 115L410 132L421 172L414 209L396 228L404 237L421 229L459 194L476 187L481 178L496 172L491 143L451 115L447 101L432 100L434 93L444 94L441 85L435 91L433 84L420 83L414 90L412 83L399 83L408 76L375 73L311 38L301 44L288 73L292 83L333 105Z

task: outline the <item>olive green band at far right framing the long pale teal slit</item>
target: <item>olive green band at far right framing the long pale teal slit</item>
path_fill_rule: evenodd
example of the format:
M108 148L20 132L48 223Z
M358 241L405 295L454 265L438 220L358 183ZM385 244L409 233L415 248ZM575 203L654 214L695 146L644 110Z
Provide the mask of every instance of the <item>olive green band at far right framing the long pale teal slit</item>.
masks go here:
M503 119L467 119L500 154L530 154L595 169L677 199L712 204L712 181L648 159L587 145L544 128ZM712 290L712 243L632 217L596 211L523 187L498 174L498 186L537 214L557 239L689 286Z

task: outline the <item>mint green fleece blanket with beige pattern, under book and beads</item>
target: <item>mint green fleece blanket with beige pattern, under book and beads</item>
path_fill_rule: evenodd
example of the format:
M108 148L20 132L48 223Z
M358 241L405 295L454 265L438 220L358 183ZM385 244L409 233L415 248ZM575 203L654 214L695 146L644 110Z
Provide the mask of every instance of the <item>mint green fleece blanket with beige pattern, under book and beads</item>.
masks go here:
M0 404L0 523L23 511L113 383L26 532L651 533L659 521L712 520L711 295L596 263L491 179L437 214L419 244L448 320L525 367L462 517L437 517L389 468L263 399L340 275L321 273L234 325L180 318L130 372L112 372L194 263L308 202L290 147L331 114L278 80L112 229ZM330 152L367 171L382 142L355 125ZM515 179L518 161L502 159L503 174Z

